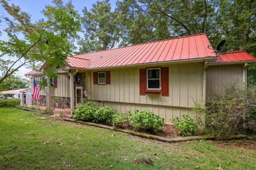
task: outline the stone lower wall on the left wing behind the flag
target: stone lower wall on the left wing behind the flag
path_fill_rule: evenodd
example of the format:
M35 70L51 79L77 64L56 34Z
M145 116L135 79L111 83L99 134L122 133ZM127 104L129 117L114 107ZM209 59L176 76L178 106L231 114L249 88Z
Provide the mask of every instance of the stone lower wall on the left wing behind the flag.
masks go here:
M54 97L55 108L70 108L69 97ZM33 101L33 105L46 106L46 96L41 96L39 101Z

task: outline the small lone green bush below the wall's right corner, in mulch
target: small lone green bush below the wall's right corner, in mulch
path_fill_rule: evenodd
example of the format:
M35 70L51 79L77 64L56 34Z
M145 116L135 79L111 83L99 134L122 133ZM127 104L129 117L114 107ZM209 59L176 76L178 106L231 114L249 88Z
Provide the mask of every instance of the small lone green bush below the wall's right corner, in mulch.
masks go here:
M178 117L174 117L173 126L180 131L180 134L184 136L196 135L198 133L198 126L202 124L201 118L197 117L194 121L189 115L182 115L183 120L179 120Z

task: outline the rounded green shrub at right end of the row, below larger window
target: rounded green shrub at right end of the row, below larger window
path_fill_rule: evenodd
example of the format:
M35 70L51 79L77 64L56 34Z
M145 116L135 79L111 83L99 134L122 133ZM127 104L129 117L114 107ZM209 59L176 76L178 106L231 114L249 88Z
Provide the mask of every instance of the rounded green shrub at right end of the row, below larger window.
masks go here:
M162 130L164 125L164 118L159 117L158 115L146 111L135 110L134 114L131 115L132 128L139 131L147 131L156 133Z

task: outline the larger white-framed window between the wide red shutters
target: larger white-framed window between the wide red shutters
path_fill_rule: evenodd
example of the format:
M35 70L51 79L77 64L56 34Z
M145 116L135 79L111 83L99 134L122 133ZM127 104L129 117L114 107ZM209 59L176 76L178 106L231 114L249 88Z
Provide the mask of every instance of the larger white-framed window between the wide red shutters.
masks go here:
M160 90L160 68L147 69L147 89Z

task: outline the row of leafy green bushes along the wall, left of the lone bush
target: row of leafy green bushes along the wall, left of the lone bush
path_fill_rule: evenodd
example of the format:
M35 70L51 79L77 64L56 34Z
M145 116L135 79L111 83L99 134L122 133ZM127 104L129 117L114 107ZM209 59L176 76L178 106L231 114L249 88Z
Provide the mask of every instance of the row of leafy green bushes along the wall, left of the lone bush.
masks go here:
M131 112L118 113L116 109L109 106L96 107L92 101L79 104L75 109L73 118L151 133L162 130L164 125L164 118L151 111L135 110L134 114L131 114Z

